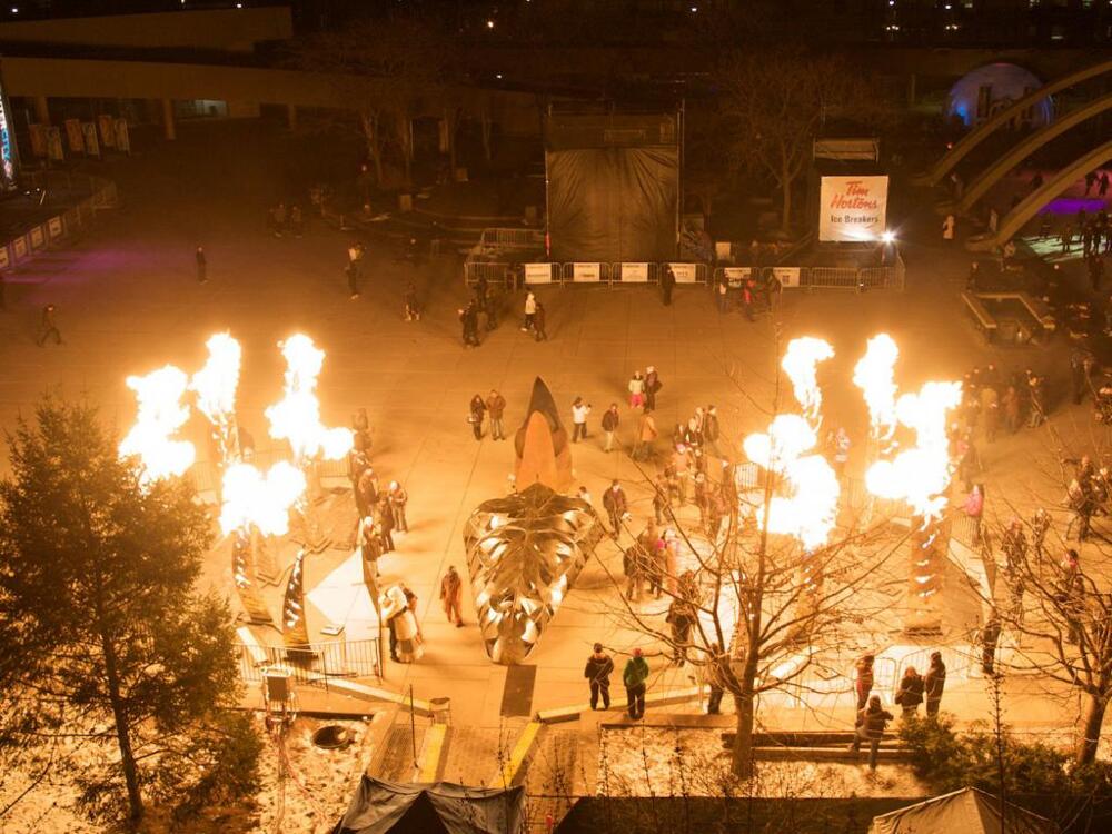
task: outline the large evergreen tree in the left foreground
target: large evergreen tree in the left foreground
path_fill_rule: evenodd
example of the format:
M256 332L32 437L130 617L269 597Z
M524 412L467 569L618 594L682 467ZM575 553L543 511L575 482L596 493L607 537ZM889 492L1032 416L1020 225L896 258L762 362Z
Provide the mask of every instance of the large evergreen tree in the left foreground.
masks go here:
M46 398L8 436L0 484L0 749L86 735L86 811L142 817L255 786L259 741L228 713L226 603L196 589L211 524L181 479L145 485L85 404ZM107 751L106 751L107 753ZM72 765L66 765L69 772Z

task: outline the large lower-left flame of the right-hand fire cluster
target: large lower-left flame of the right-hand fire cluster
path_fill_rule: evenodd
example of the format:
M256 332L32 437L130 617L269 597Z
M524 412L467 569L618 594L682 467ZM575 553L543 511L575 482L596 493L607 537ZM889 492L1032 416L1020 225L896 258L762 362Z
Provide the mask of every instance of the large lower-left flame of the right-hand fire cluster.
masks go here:
M749 460L782 476L788 492L787 496L772 496L768 532L792 536L808 552L822 547L830 538L842 493L837 475L826 458L804 456L817 440L806 419L797 414L782 414L773 419L768 434L749 435L743 443Z

